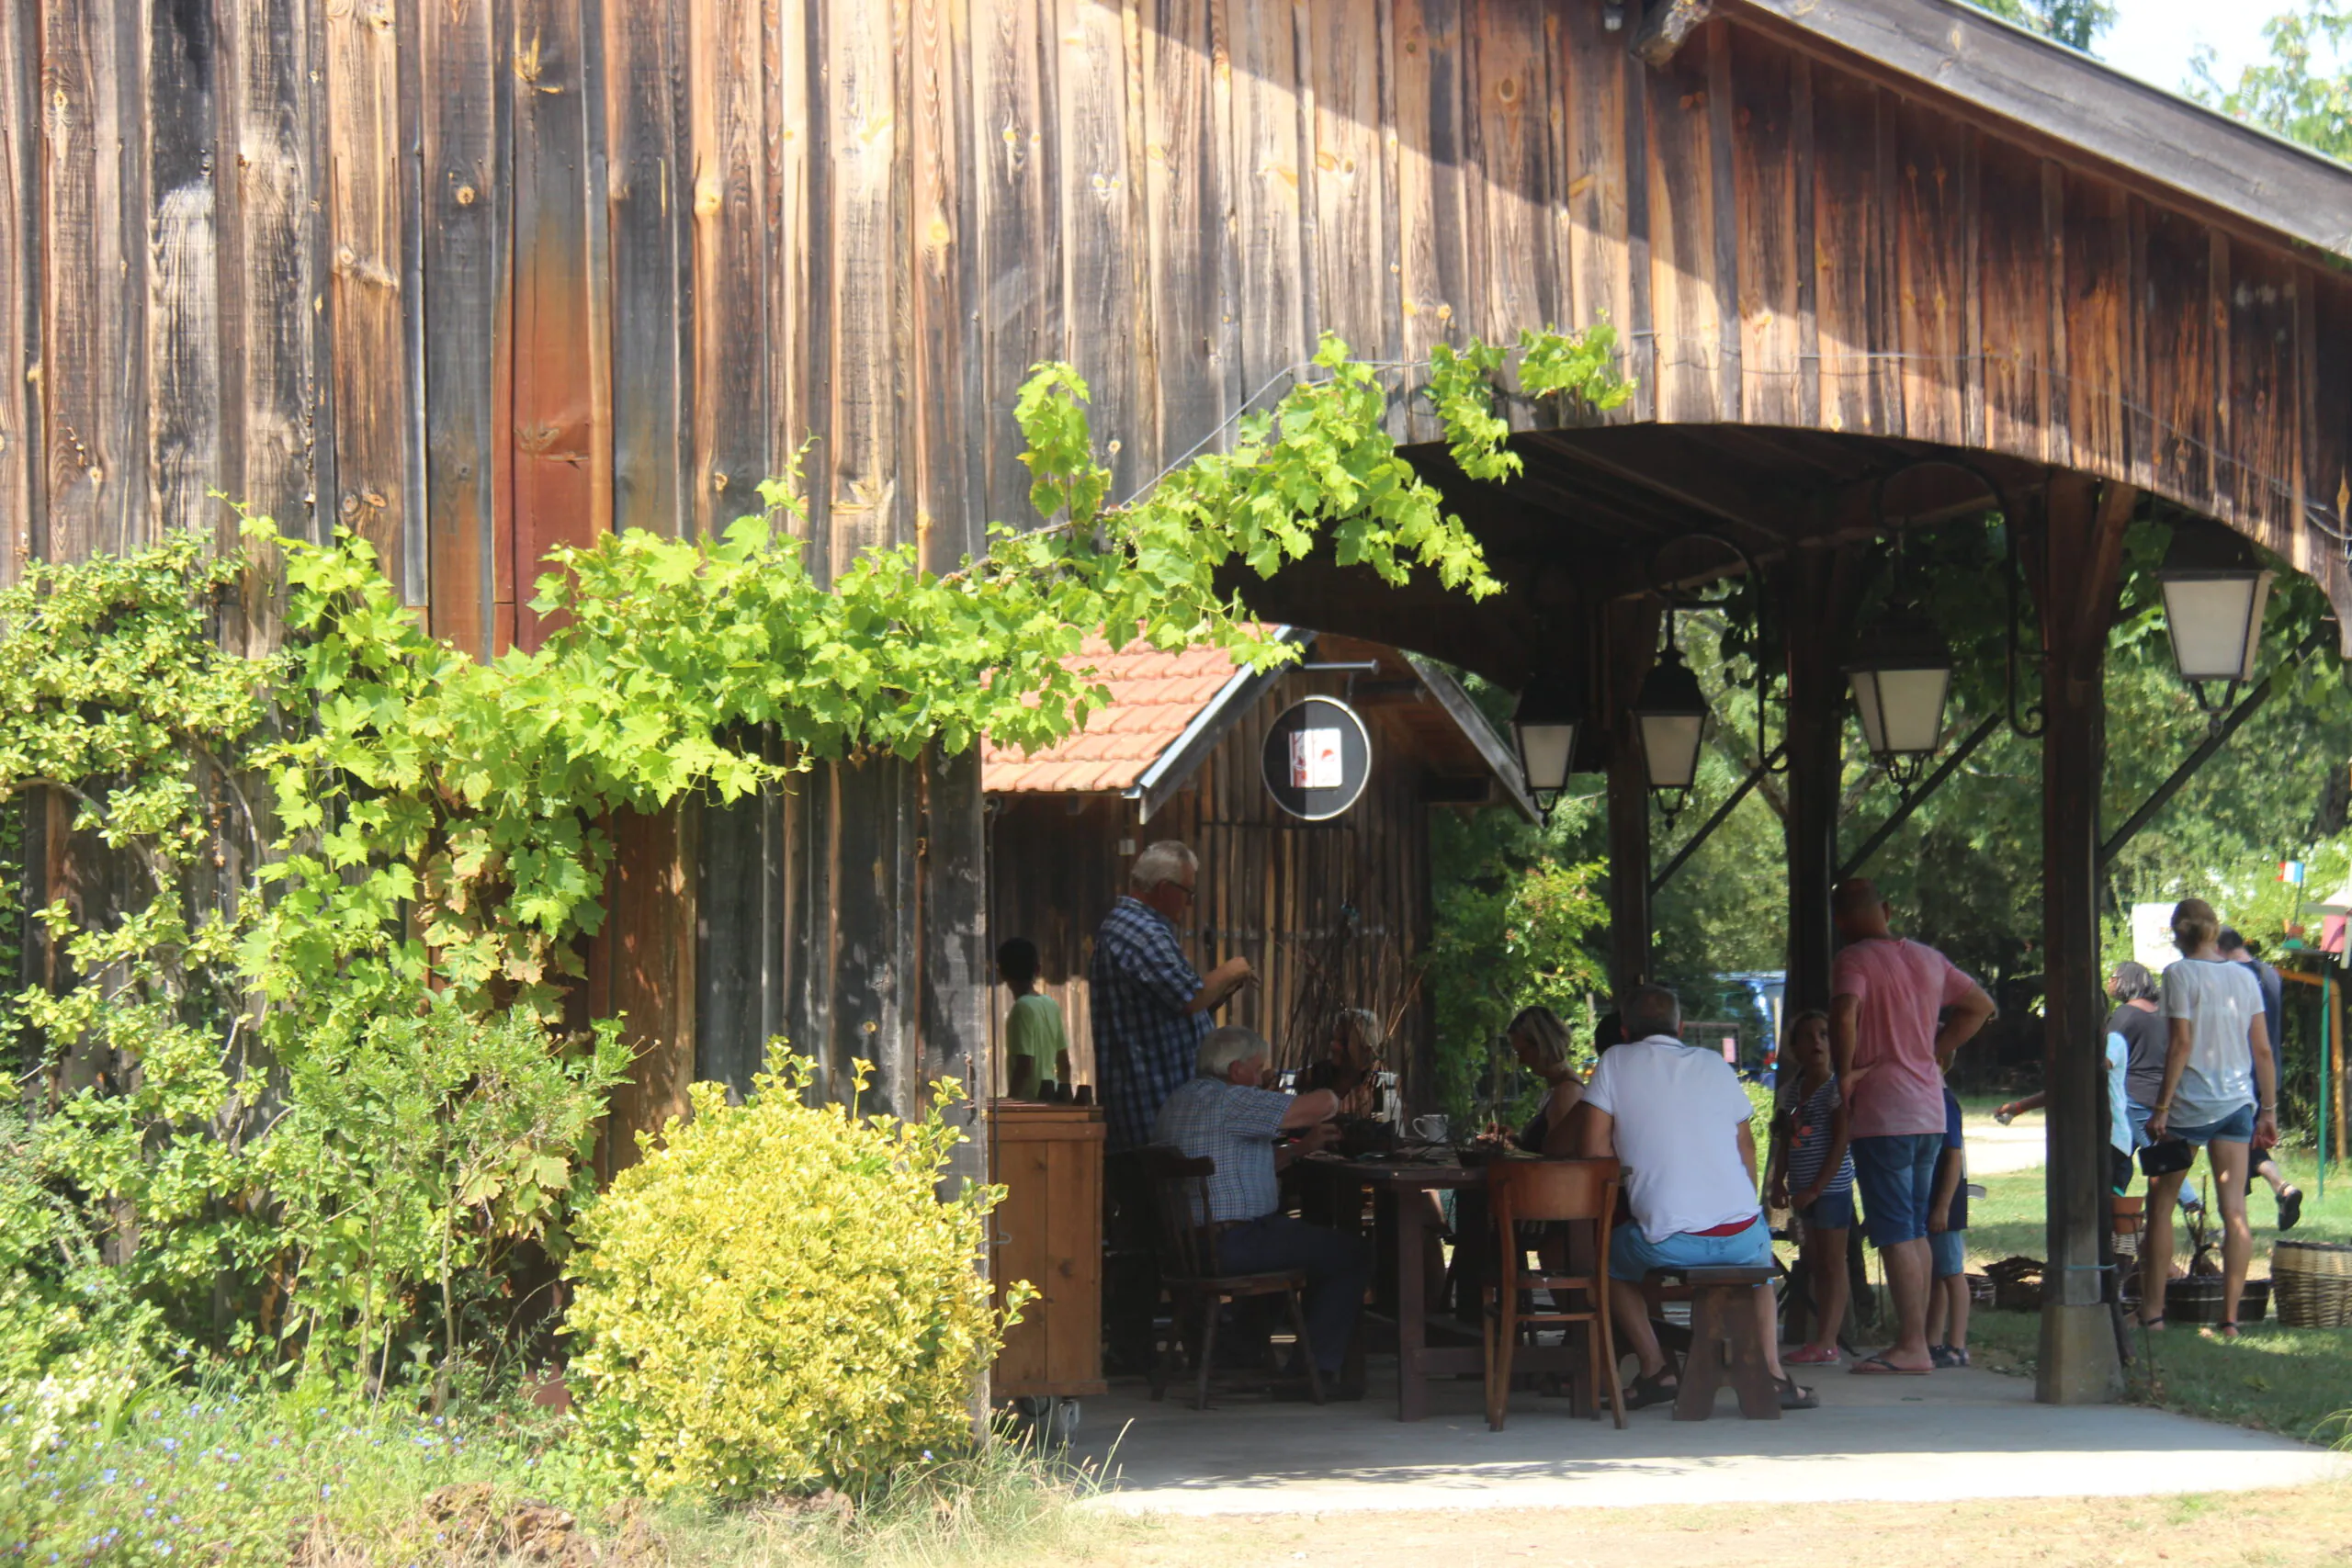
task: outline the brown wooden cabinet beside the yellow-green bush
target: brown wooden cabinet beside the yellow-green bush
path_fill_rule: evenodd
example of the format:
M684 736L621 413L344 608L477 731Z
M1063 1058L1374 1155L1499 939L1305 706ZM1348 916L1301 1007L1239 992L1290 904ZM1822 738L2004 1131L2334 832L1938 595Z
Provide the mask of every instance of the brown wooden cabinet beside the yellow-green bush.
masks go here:
M993 1180L1004 1185L990 1229L990 1279L1025 1279L1037 1298L1004 1335L993 1399L1075 1399L1103 1392L1103 1112L1094 1105L995 1100L988 1107Z

